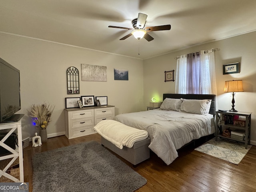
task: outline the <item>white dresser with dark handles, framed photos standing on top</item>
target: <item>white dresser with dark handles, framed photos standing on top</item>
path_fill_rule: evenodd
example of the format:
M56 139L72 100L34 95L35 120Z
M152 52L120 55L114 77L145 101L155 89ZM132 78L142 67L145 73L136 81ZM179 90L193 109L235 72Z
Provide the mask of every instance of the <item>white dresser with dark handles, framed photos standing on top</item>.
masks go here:
M66 137L68 139L96 133L93 127L105 119L113 119L112 105L65 109Z

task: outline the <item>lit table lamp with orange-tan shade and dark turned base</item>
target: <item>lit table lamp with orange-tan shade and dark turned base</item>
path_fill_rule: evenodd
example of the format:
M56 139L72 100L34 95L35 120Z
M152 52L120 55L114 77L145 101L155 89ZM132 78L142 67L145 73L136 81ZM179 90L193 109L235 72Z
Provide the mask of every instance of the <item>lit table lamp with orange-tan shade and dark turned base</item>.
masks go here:
M232 109L230 109L229 111L231 112L237 112L237 110L235 110L235 99L234 99L234 92L243 92L243 84L242 84L242 80L232 80L232 81L225 81L225 87L224 87L224 92L233 92L232 93Z

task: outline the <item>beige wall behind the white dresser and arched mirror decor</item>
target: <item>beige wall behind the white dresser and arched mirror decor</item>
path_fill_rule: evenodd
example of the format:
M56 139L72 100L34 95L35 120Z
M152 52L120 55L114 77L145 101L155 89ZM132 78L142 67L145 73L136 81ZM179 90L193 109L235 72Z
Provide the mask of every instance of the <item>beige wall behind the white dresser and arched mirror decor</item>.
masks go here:
M97 52L41 40L0 34L0 57L20 70L21 104L24 113L22 131L34 135L28 110L32 104L55 105L47 132L58 136L65 132L65 98L108 96L115 114L144 110L143 60ZM107 66L107 82L81 80L81 64ZM80 94L67 94L66 70L80 72ZM114 68L127 69L129 80L114 80Z

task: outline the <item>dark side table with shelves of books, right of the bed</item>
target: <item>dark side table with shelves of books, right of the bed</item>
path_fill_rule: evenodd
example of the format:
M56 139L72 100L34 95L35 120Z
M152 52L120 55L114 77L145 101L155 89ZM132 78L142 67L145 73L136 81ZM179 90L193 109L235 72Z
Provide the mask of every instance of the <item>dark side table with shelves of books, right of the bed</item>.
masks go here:
M229 112L229 111L216 111L216 119L215 119L215 140L217 141L218 137L226 138L229 140L234 140L238 142L243 142L245 144L245 148L247 149L247 145L250 144L250 130L251 130L251 112ZM245 126L237 126L234 124L225 124L220 122L221 115L229 115L229 116L243 116L245 117ZM234 130L241 130L244 132L245 137L244 140L240 140L237 138L225 137L222 133L222 126L226 126L232 128Z

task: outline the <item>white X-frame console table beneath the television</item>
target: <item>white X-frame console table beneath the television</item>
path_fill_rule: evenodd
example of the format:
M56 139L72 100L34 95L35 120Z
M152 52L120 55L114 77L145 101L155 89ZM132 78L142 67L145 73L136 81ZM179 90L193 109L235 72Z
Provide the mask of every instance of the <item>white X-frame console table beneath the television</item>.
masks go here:
M23 174L23 152L22 152L22 132L21 132L21 120L18 122L11 122L11 123L1 123L0 130L10 129L10 131L4 136L4 138L0 141L0 146L6 148L12 154L0 156L0 163L1 160L12 158L10 163L3 169L0 170L0 177L5 176L6 178L13 180L14 182L24 182L24 174ZM15 131L18 130L18 151L10 148L8 145L4 144L4 141ZM20 179L11 176L10 174L6 173L8 168L12 165L12 163L19 158L19 167L20 167Z

